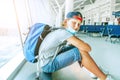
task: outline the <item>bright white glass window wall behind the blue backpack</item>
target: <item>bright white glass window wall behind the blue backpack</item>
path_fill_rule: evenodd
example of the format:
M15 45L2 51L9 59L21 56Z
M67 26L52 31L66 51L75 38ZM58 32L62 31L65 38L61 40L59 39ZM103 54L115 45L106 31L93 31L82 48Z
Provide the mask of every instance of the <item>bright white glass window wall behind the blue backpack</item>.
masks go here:
M22 51L33 24L55 24L51 11L48 0L0 0L0 68Z

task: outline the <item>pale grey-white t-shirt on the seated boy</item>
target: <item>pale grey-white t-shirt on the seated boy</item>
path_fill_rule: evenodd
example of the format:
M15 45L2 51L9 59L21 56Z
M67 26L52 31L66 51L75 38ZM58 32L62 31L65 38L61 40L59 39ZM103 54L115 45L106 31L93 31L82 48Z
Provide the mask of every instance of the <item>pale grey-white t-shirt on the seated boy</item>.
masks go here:
M73 35L65 29L58 29L49 33L39 48L40 67L52 61L58 46L72 36Z

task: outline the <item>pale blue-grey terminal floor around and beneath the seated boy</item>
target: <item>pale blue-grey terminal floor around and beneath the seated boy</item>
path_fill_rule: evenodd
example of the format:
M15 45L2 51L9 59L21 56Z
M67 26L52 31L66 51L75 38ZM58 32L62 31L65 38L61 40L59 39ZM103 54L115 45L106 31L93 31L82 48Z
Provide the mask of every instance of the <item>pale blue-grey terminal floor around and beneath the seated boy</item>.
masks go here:
M79 38L89 43L92 47L90 55L95 62L106 73L111 74L115 79L120 80L120 43L110 43L104 37L91 37L86 34L77 34ZM35 80L36 65L26 63L14 80ZM53 80L93 80L89 73L74 63L53 74Z

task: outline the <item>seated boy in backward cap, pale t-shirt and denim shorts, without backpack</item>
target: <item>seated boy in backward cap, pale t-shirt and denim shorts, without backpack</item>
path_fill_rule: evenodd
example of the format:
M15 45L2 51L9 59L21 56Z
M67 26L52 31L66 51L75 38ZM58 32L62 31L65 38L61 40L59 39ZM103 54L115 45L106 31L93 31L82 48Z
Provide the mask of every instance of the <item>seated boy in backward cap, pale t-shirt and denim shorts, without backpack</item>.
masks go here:
M99 80L110 80L89 55L91 47L74 34L80 29L82 15L70 12L63 21L64 29L49 33L39 48L40 80L52 80L52 73L78 61Z

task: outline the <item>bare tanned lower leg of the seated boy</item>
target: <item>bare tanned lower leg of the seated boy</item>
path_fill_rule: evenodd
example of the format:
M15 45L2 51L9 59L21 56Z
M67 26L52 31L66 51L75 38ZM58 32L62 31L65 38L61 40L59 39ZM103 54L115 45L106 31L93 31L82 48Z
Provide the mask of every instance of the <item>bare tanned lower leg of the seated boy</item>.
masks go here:
M99 67L94 62L94 60L91 58L91 56L88 54L88 52L81 51L81 56L82 56L81 63L87 70L89 70L90 72L95 74L97 77L99 77L100 80L106 79L106 75L99 69Z

